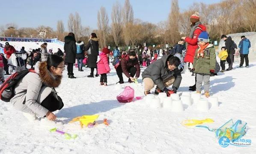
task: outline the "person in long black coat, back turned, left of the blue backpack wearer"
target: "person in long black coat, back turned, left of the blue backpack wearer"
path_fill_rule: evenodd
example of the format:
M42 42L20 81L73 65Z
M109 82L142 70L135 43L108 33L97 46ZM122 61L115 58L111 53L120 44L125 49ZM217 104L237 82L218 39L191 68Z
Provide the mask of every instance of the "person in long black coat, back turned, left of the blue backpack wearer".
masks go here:
M76 40L74 38L74 33L68 33L68 36L65 36L65 63L68 63L68 78L74 79L73 66L76 59L77 46Z

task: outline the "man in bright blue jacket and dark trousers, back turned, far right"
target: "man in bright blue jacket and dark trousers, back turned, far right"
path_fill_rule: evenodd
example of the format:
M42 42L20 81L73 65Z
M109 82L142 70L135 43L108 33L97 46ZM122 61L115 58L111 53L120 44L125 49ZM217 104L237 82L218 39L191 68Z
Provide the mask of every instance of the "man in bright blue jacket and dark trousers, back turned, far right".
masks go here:
M251 47L250 40L247 39L245 36L241 36L241 41L238 45L238 48L240 48L240 66L239 68L243 68L244 65L244 59L245 59L245 67L249 67L249 60L248 60L248 54L249 54L249 48Z

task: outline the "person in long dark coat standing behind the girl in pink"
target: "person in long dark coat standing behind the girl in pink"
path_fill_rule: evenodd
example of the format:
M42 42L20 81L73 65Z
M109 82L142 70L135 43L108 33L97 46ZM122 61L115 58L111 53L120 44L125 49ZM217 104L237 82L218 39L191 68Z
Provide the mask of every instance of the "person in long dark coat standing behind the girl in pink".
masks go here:
M88 53L88 67L91 68L91 74L87 77L93 77L94 68L97 71L97 57L98 57L98 38L95 33L90 35L89 43L86 45L85 50ZM98 72L95 75L98 77Z

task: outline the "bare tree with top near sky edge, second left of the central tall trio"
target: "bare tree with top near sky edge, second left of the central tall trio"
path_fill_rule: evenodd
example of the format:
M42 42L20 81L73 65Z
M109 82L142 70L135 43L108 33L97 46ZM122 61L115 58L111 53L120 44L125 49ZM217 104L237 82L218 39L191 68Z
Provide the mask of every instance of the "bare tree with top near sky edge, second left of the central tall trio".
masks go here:
M116 1L116 4L113 5L111 19L112 19L112 35L115 41L116 46L119 45L121 40L121 32L122 32L122 13L121 13L121 6Z

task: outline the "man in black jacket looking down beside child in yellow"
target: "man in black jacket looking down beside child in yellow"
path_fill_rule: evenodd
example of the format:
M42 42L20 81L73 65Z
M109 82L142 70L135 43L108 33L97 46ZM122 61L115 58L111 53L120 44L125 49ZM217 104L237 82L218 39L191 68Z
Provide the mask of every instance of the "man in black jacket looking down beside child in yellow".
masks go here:
M225 41L225 46L228 52L228 57L226 58L226 61L229 63L229 68L226 69L226 71L230 71L233 69L233 61L234 61L234 54L235 54L235 48L234 48L234 42L232 41L232 38L226 35L222 35L221 39Z

